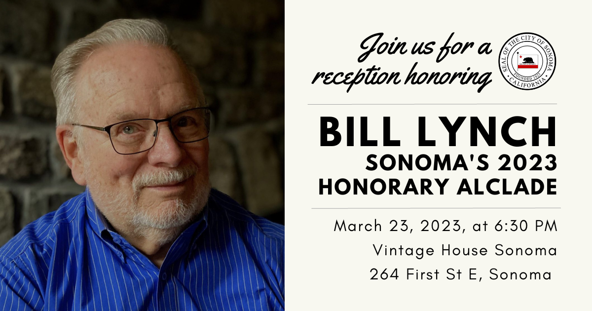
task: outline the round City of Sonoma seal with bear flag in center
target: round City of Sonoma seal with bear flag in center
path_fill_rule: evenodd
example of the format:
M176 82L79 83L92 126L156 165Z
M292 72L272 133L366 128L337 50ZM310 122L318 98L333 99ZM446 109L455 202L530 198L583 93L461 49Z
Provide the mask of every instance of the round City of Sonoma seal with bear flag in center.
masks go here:
M555 51L545 38L535 33L511 37L500 50L501 75L514 88L536 89L545 85L556 65Z

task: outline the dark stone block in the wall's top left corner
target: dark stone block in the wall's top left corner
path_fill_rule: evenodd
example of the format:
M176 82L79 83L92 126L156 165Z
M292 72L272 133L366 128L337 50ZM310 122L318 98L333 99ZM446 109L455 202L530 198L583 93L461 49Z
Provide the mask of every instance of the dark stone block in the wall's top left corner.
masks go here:
M49 62L56 25L48 1L0 1L0 54Z

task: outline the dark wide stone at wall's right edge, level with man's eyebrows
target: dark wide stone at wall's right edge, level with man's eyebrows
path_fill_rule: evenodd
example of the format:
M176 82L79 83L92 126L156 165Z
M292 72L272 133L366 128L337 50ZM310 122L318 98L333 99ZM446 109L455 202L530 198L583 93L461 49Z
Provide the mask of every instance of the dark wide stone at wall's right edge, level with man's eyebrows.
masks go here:
M218 100L220 126L266 121L284 113L283 93L227 88L218 91Z

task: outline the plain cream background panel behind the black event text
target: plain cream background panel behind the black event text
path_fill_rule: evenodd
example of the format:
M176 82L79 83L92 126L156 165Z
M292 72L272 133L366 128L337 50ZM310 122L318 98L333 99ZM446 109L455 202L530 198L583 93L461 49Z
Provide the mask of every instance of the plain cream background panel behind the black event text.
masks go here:
M587 124L590 116L588 61L575 62L590 51L588 2L470 2L470 1L289 1L286 3L286 280L289 310L372 310L372 309L588 309L590 293L590 181ZM383 32L382 41L436 41L428 55L373 53L358 63L364 51L359 45L371 34ZM449 54L442 62L435 59L449 35L451 44L474 42L464 54ZM502 44L518 33L532 32L545 37L558 58L552 79L533 91L513 88L500 75L497 58ZM491 54L478 54L481 43L490 42ZM479 85L404 85L404 79L419 62L416 72L491 72L493 82L481 93ZM401 72L398 85L311 84L317 72L358 72L381 67L381 72ZM418 73L418 74L419 74ZM308 105L308 104L509 104L545 103L556 105ZM320 146L320 117L339 119L342 143ZM355 146L345 144L346 117L355 117ZM369 120L370 139L377 147L359 146L359 117ZM382 117L391 117L392 139L400 147L383 147ZM435 147L419 147L417 118L426 117L428 139ZM448 146L448 133L437 117L451 120L466 116L457 134L455 147ZM497 118L497 146L489 147L480 138L479 146L469 146L469 117ZM514 148L501 139L501 124L512 116L523 116L527 123L514 125L511 135L525 137L527 146ZM532 117L556 118L556 146L532 146ZM414 156L451 154L465 156L468 171L366 171L366 156L399 153ZM475 169L469 155L488 155L490 168ZM555 171L497 171L498 156L552 153ZM377 159L377 160L378 160ZM529 168L532 161L528 161ZM318 195L318 179L332 178L450 178L444 195ZM517 178L556 178L556 195L456 195L462 178L479 178L481 190L490 178L509 179L513 188ZM435 187L435 185L433 186ZM437 188L432 188L437 190ZM561 207L561 209L350 209L318 210L313 207ZM333 232L336 220L382 224L382 232ZM388 232L391 219L406 219L413 233ZM460 220L466 229L458 232L420 232L421 220ZM496 232L498 220L527 220L526 232ZM555 220L558 232L535 232L535 220ZM487 221L487 232L472 232L471 225ZM432 247L431 257L377 256L372 244L390 247ZM488 255L464 257L441 255L441 245L485 247ZM557 249L556 256L496 256L494 246L546 247ZM398 280L370 280L371 268L398 268ZM406 280L406 268L440 271L439 280ZM447 268L462 269L462 280L446 280ZM477 268L482 281L468 280L468 269ZM498 271L550 271L552 279L489 280L489 269Z

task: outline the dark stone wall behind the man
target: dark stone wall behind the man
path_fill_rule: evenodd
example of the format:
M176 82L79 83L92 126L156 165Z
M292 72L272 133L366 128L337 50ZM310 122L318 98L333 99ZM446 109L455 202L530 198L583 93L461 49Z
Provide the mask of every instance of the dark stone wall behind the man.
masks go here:
M284 222L284 2L0 0L0 245L81 193L55 139L50 70L115 18L157 18L212 107L213 187Z

